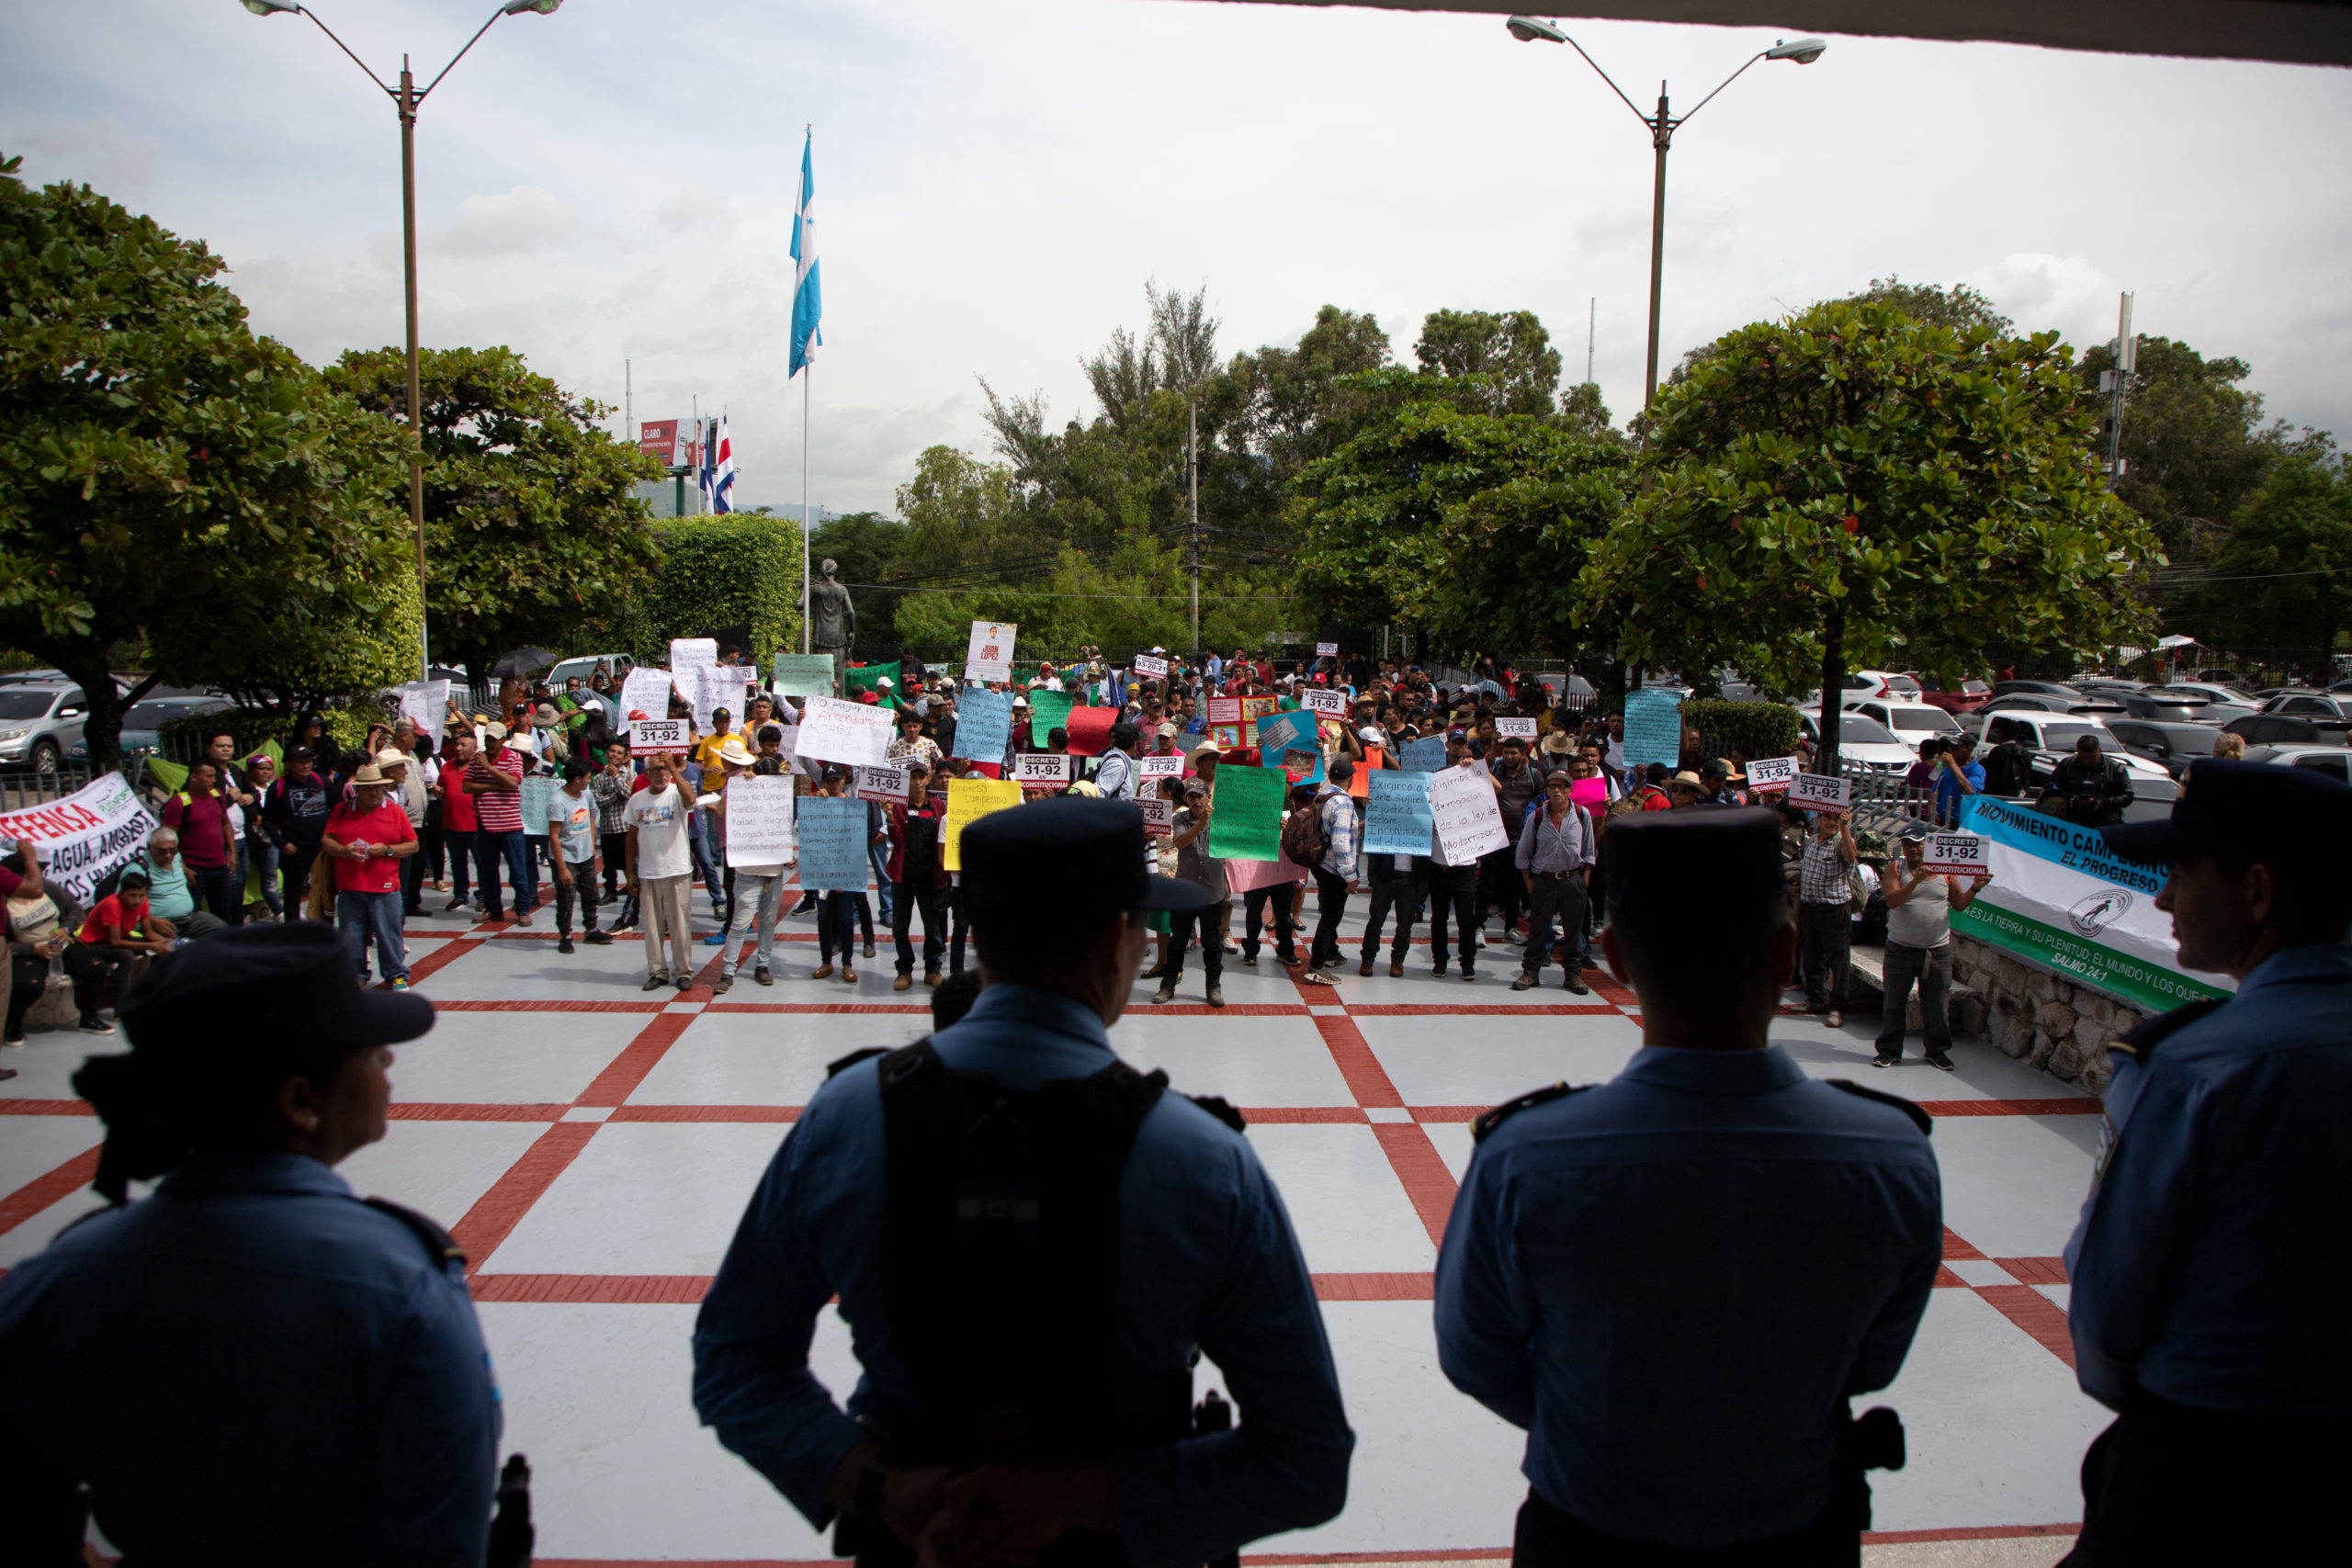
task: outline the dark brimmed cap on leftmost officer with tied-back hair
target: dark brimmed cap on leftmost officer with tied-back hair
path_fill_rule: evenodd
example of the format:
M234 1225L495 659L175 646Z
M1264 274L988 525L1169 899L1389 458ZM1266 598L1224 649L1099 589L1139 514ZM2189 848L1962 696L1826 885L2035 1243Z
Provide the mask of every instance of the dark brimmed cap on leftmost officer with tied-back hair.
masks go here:
M155 961L118 1011L139 1051L233 1051L242 1039L390 1046L433 1027L414 992L360 990L350 947L322 922L233 926Z

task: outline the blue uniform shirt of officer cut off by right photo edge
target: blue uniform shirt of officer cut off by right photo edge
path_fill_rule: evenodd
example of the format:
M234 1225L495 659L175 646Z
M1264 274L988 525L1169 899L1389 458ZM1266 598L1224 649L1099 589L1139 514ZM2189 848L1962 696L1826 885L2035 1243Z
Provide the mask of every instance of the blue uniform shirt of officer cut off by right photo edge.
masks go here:
M2288 947L2140 1060L2065 1248L2084 1394L2352 1415L2352 945Z

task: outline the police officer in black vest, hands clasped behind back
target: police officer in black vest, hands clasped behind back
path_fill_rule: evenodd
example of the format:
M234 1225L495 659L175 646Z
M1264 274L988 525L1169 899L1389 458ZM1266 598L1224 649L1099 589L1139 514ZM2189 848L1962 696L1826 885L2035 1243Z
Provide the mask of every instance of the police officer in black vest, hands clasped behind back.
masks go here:
M1331 1519L1355 1434L1282 1199L1230 1107L1108 1037L1143 912L1209 893L1145 872L1127 802L1000 811L960 856L985 990L837 1063L783 1140L696 1321L703 1422L866 1568L1200 1568ZM835 1295L847 1410L809 1375Z

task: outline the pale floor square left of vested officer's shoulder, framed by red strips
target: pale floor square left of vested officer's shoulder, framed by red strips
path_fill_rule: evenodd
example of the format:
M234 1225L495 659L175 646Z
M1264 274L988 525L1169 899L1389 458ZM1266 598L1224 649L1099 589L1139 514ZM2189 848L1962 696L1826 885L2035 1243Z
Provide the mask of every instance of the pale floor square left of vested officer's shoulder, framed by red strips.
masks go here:
M609 1121L485 1274L715 1274L783 1143L774 1124Z

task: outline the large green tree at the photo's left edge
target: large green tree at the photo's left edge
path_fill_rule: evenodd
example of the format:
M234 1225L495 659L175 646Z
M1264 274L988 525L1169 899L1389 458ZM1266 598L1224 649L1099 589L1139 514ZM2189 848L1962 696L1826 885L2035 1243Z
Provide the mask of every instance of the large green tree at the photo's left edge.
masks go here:
M0 165L0 642L82 686L101 769L165 675L315 661L405 569L402 433L256 339L221 266ZM153 670L118 696L108 651L139 642Z

